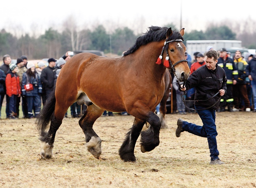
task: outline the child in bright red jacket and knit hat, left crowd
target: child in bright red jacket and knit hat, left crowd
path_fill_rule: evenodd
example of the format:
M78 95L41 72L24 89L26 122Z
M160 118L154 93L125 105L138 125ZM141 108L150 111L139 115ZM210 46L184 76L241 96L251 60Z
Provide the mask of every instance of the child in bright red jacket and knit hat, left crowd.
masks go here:
M9 114L8 119L16 119L16 101L17 97L21 96L20 79L17 75L19 71L16 64L9 65L10 72L6 75L5 85L6 94L9 96Z

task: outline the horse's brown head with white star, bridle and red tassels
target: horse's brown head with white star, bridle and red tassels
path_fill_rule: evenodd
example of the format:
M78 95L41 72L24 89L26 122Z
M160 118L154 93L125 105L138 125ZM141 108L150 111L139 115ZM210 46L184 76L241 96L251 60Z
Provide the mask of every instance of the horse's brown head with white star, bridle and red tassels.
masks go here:
M188 61L185 59L186 47L183 44L184 28L177 31L172 31L170 27L166 33L166 40L164 42L164 47L160 59L165 56L164 66L171 69L174 73L175 78L179 82L184 82L188 79L190 74L190 69L188 67ZM158 61L158 62L162 62ZM157 63L158 63L157 62Z

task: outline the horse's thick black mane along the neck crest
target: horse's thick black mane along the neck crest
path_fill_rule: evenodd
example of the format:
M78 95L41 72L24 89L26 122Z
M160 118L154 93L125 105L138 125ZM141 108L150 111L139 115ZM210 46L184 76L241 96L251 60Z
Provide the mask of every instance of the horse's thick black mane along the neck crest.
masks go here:
M146 33L144 33L144 35L137 38L133 47L131 47L129 50L127 50L123 54L123 56L132 54L133 52L138 50L138 48L140 46L146 45L150 42L159 42L161 40L166 39L166 32L168 30L167 27L151 26L151 27L148 27L148 29L149 30ZM173 30L173 34L171 35L170 38L168 38L168 40L173 40L173 39L182 39L182 40L184 40L183 37L181 36L181 34L176 30Z

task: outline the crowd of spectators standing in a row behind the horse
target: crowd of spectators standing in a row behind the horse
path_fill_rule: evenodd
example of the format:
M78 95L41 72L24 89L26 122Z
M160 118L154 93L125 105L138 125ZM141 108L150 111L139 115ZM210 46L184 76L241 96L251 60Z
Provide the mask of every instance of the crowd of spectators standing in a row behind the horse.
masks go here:
M213 49L207 47L206 51ZM16 63L11 63L9 55L3 56L3 64L0 66L0 118L1 107L6 99L5 113L9 119L21 118L20 106L22 108L22 118L35 118L41 105L45 104L50 93L55 89L56 79L61 68L65 65L71 56L66 52L59 59L49 58L48 62L39 61L36 64L28 62L25 55L17 58ZM233 58L230 52L225 48L218 50L218 66L222 67L227 75L227 93L221 99L218 112L234 111L252 111L256 112L256 56L249 54L246 58L242 52L236 51ZM193 73L199 67L205 65L205 56L200 52L193 54L193 59L188 52L185 52L188 60L190 72ZM180 97L176 82L172 86L176 90L174 96L177 102L177 111L174 113L187 114L195 113L193 108L193 99L195 90L192 88L186 92L185 105ZM21 103L21 104L20 104ZM159 106L158 106L159 108ZM157 109L158 109L157 108ZM82 108L77 103L70 107L71 117L80 117ZM159 110L156 110L156 113ZM103 116L114 116L112 112L106 112ZM128 115L127 112L121 115ZM67 117L67 113L65 115Z

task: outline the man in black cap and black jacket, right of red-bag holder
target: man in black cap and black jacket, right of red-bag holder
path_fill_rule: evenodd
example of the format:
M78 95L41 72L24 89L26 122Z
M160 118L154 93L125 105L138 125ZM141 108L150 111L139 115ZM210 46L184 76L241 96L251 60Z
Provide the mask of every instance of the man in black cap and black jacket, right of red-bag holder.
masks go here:
M50 97L51 92L54 89L54 67L56 65L56 59L50 58L48 59L48 67L44 68L41 73L41 82L43 84L43 90L46 92L46 100ZM45 104L45 100L43 100L43 104Z

